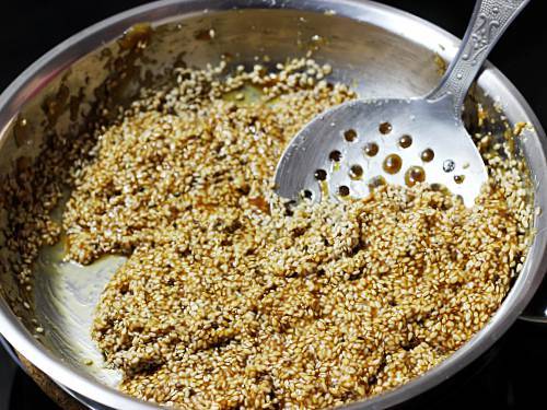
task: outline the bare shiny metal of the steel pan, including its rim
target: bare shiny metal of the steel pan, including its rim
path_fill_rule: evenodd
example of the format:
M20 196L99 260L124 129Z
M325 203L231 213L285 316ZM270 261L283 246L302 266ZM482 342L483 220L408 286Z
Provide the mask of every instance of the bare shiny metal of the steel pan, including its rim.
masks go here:
M110 58L121 52L116 38L138 22L150 22L155 31L146 59L139 60L140 79L159 74L184 59L202 67L220 60L225 52L232 65L255 63L255 56L271 61L302 56L315 48L313 38L324 38L314 51L319 62L334 67L334 79L353 86L361 98L411 97L426 94L439 82L435 55L451 60L458 40L420 19L400 11L360 0L168 0L150 3L105 20L54 48L23 72L0 95L0 173L11 172L21 156L35 157L48 132L77 132L95 98L95 90L108 78ZM196 38L202 30L216 31L213 40ZM150 74L147 74L150 72ZM120 97L130 98L139 90L138 79L129 82ZM42 105L47 96L66 87L70 96L83 95L80 110L69 110L54 125L47 122ZM547 204L546 140L542 126L510 82L493 67L486 66L474 98L491 116L500 116L500 105L510 125L532 125L519 139L519 150L532 171L534 200ZM473 112L466 110L466 115ZM14 125L25 118L33 130L30 140L18 144ZM504 129L492 128L496 138ZM0 225L9 209L0 207ZM384 408L409 399L449 378L485 352L519 317L528 304L547 266L546 213L536 216L535 237L524 269L505 302L490 324L447 361L420 378L388 394L352 408ZM7 257L0 234L0 262ZM116 409L149 409L144 403L114 388L115 372L104 368L101 355L89 337L89 320L98 293L116 268L116 259L92 265L95 273L73 265L62 265L55 249L44 253L36 265L34 309L22 306L21 289L13 272L0 269L0 332L34 365L57 383L83 398ZM103 263L103 265L101 265ZM3 266L3 263L2 263ZM98 274L100 277L96 277ZM38 316L45 333L35 339L32 318ZM92 358L93 366L84 364Z

